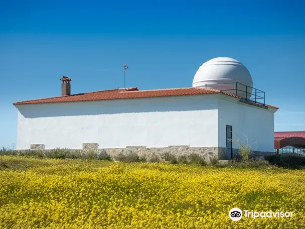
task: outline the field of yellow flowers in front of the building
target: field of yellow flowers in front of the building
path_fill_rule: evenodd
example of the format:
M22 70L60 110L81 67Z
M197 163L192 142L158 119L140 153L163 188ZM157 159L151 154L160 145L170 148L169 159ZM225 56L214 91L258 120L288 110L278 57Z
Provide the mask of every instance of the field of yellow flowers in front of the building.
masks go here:
M304 170L0 157L0 228L305 228L304 213Z

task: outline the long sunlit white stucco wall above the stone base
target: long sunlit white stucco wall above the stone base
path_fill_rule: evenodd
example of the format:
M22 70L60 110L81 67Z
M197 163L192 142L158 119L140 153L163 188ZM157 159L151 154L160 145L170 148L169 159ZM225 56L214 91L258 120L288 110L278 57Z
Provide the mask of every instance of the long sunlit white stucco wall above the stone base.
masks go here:
M31 144L81 149L82 143L98 143L99 148L218 146L218 99L213 94L17 108L17 149Z

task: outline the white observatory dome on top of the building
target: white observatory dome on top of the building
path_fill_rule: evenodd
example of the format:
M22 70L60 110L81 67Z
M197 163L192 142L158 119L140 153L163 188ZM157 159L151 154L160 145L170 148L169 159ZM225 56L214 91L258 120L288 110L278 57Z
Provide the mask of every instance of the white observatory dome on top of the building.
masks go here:
M247 68L235 59L217 57L200 66L195 74L193 87L207 87L236 94L236 84L234 84L236 82L250 86L247 87L247 98L249 98L249 93L252 92L253 81ZM246 93L242 92L246 91L246 86L241 84L237 84L237 95L246 97Z

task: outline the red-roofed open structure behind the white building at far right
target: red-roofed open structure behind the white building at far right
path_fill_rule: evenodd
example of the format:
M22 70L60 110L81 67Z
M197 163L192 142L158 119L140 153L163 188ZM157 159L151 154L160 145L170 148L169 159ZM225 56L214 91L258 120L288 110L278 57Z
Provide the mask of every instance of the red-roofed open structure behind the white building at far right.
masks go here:
M304 153L305 131L275 132L274 149L276 153Z

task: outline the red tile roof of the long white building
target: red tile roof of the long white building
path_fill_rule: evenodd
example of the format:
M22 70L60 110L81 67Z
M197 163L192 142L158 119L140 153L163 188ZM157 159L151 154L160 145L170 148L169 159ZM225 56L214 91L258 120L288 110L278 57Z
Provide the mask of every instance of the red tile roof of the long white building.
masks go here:
M240 98L239 96L228 94L220 90L201 88L201 87L182 87L182 88L154 89L154 90L138 90L136 87L132 87L132 88L127 88L126 90L125 89L102 90L102 91L64 95L64 96L51 97L51 98L27 100L27 101L15 102L13 104L21 105L21 104L37 104L37 103L49 103L49 102L96 101L96 100L110 100L110 99L186 96L186 95L219 94L219 93ZM271 105L266 105L266 106L278 109L278 107L276 106L271 106Z

